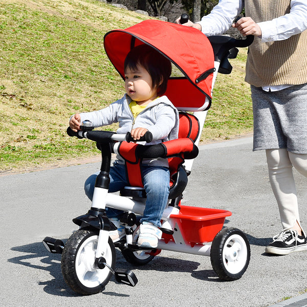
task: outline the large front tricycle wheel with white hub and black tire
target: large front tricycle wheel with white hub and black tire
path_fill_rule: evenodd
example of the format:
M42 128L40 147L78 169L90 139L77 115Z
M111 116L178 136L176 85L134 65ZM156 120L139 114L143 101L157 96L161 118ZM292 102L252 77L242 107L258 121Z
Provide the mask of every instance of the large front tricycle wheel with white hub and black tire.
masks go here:
M107 267L98 269L93 266L97 242L98 232L79 229L70 236L63 249L61 269L64 280L72 290L82 295L103 291L112 276ZM84 247L86 248L84 249ZM104 258L114 270L116 253L111 238L108 238L108 247ZM97 279L98 281L96 281Z

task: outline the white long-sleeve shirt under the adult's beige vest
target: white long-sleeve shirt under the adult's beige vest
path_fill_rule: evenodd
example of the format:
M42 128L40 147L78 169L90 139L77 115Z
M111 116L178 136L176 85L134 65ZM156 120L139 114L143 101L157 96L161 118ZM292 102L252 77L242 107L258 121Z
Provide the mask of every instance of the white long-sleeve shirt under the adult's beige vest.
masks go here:
M211 13L198 22L202 32L207 36L221 35L232 25L236 16L242 12L244 0L220 0ZM261 40L283 40L292 35L299 34L307 29L307 1L292 0L290 13L272 20L258 23L261 29ZM264 91L279 91L291 85L262 86Z

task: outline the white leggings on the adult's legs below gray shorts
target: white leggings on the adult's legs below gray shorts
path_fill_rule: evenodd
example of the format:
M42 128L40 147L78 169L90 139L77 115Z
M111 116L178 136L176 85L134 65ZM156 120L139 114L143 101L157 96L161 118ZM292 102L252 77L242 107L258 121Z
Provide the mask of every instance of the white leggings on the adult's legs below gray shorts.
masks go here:
M286 148L266 149L270 183L278 204L283 229L300 225L296 187L292 166L307 177L307 154L293 153Z

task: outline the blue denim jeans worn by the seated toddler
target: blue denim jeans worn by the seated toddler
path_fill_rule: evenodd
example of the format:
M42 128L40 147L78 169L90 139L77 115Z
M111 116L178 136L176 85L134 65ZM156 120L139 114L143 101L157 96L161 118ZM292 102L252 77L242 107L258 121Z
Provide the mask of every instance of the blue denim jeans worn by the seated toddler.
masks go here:
M86 196L92 201L95 181L98 173L91 175L84 183ZM162 166L142 166L142 176L144 189L146 191L146 206L141 222L150 222L153 225L161 226L161 217L167 205L169 194L169 170ZM117 192L124 186L128 185L126 179L126 169L122 164L114 162L109 173L110 185L108 191L110 193ZM118 217L123 211L106 208L106 215Z

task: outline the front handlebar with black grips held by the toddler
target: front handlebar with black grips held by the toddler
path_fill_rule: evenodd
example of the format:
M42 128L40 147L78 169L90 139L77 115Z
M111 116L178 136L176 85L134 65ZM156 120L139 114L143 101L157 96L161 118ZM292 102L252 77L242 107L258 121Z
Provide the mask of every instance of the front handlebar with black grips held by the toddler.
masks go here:
M121 141L126 141L126 142L133 142L135 141L129 132L126 134L117 134L113 131L103 131L103 130L87 130L87 131L82 131L78 130L77 132L73 131L71 127L67 128L67 134L70 137L77 137L79 139L89 139L92 141L95 141L97 143L107 143L107 142L121 142ZM146 142L150 143L152 141L152 134L149 131L146 131L145 135L141 137L137 142Z

